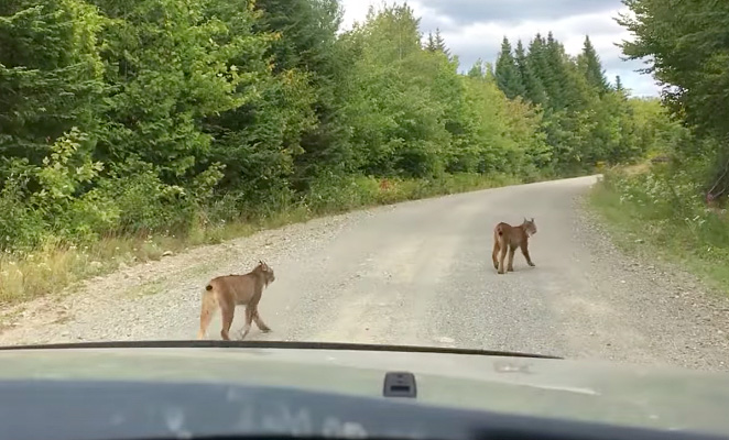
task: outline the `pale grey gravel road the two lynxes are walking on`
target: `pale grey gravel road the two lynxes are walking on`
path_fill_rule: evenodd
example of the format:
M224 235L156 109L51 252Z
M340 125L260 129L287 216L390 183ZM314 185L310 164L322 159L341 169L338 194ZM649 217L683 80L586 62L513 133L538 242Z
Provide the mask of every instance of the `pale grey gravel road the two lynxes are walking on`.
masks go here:
M584 195L596 177L374 208L264 231L6 310L0 343L194 339L213 276L275 271L250 339L494 349L729 370L729 298L620 253ZM531 268L491 265L492 228L534 217ZM242 326L238 312L233 331ZM218 338L219 317L210 338ZM236 334L236 333L233 333Z

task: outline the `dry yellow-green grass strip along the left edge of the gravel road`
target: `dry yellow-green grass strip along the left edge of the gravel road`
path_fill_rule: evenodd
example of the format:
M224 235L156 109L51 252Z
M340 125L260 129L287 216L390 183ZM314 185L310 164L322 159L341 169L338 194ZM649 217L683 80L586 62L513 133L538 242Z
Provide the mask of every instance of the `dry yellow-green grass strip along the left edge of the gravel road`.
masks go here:
M530 179L535 182L536 178ZM68 289L75 283L105 275L121 267L162 258L186 249L248 237L264 229L312 220L355 209L423 199L456 193L520 184L505 175L447 175L439 179L377 179L355 177L338 185L320 185L297 204L264 207L237 221L200 222L185 232L143 237L105 237L86 246L47 243L23 255L0 254L0 305L18 304ZM252 219L252 220L251 220ZM152 295L154 292L144 292Z

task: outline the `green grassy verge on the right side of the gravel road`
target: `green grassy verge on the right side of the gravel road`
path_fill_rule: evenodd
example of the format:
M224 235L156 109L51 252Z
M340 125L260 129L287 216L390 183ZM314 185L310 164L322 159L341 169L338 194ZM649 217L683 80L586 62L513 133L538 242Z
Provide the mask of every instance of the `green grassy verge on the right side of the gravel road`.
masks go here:
M729 295L729 216L682 185L681 176L661 178L650 167L614 169L592 188L589 205L623 251L678 265Z

